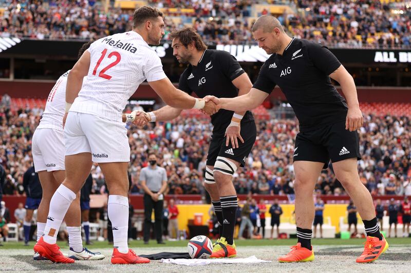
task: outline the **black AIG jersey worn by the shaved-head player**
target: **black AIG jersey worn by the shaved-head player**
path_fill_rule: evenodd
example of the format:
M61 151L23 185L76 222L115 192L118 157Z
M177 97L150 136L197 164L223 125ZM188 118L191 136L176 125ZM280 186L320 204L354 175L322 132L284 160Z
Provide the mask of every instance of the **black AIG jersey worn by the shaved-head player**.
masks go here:
M324 46L293 38L283 55L272 54L261 66L253 88L271 93L281 88L300 121L309 131L345 120L347 104L331 84L340 61Z

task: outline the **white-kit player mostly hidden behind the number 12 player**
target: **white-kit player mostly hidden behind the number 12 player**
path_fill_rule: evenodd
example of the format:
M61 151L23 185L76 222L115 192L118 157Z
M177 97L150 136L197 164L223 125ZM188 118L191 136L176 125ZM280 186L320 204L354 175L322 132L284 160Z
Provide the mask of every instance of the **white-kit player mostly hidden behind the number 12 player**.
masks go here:
M88 42L79 51L79 57L90 46ZM50 200L54 192L63 182L64 168L64 132L63 117L66 101L67 76L70 70L61 75L46 101L39 126L32 138L32 155L34 170L39 174L43 196L38 208L37 216L37 240L43 235L46 226ZM79 196L71 203L65 217L69 236L69 257L76 260L101 260L104 255L93 253L83 248L81 238L81 212ZM44 260L38 253L34 253L34 260Z

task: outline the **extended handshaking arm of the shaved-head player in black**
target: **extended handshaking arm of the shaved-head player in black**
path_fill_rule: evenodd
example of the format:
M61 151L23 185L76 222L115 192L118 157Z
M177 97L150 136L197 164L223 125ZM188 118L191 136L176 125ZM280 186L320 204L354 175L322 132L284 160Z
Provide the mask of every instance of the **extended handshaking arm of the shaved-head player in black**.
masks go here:
M268 93L256 88L251 88L248 94L235 98L216 98L214 96L206 96L204 97L204 100L214 101L214 103L217 104L218 109L222 108L231 111L247 111L259 106L264 102L267 96Z

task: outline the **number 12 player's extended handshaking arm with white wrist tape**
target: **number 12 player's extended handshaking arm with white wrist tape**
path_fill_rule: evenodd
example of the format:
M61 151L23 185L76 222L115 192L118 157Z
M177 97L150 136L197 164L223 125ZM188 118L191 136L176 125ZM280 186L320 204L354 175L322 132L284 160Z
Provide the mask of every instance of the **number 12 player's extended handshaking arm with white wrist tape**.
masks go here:
M149 81L148 84L156 91L161 99L169 106L177 109L203 109L207 114L215 114L218 109L203 99L194 98L187 93L175 88L169 78Z

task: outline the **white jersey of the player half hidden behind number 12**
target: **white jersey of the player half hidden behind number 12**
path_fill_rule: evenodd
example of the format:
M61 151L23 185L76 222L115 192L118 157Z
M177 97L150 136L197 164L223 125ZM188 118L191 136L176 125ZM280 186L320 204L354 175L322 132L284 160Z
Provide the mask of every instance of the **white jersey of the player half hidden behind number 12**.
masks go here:
M37 128L63 131L63 117L66 107L66 85L69 72L70 70L61 75L57 82L55 82L54 87L47 97L46 108L44 109L42 119Z

